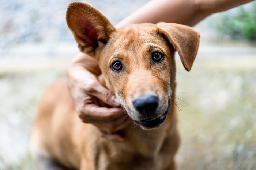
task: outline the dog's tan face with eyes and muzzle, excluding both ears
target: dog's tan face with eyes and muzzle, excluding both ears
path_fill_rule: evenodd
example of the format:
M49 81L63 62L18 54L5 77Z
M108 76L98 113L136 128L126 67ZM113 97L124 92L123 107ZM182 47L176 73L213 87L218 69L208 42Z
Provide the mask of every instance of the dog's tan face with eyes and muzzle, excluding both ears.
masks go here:
M127 114L144 128L165 120L174 80L174 49L153 24L115 31L99 56L106 85ZM171 76L172 75L172 76Z

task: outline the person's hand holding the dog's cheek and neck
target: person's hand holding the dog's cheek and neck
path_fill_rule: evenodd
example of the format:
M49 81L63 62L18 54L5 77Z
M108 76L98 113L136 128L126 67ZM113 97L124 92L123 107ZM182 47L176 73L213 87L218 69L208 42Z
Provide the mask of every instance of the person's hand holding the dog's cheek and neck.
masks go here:
M131 119L116 96L100 84L97 78L100 73L95 59L78 54L67 70L69 91L83 122L97 126L103 137L121 141L123 137L115 132L131 123ZM101 107L99 100L114 107Z

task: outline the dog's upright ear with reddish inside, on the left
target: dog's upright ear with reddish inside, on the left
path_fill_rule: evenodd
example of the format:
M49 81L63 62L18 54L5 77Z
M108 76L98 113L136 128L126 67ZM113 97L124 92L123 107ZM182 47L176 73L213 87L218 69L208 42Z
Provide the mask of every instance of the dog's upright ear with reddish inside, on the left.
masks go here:
M99 42L106 44L110 34L115 31L105 16L85 3L71 3L67 9L66 20L79 50L92 56Z

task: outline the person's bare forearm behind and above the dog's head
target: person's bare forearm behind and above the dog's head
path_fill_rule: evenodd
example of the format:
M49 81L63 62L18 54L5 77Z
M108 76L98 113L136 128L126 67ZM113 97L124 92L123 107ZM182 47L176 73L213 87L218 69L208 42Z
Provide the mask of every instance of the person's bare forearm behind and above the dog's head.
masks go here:
M253 0L151 0L116 27L161 21L193 26L212 13L225 11L250 1Z

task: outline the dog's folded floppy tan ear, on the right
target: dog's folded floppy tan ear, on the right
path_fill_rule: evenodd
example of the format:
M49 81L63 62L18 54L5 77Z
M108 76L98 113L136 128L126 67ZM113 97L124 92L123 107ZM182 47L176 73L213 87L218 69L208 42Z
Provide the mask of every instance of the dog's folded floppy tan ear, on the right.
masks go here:
M199 46L199 33L193 28L175 23L157 23L158 32L165 36L178 52L181 62L190 71Z

